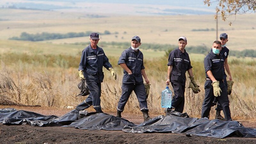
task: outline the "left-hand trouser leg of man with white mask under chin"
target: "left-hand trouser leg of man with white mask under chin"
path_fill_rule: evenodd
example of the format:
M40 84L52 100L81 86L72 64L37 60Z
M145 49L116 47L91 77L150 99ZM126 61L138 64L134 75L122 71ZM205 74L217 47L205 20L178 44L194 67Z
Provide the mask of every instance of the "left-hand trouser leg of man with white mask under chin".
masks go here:
M121 112L124 111L124 106L127 103L134 86L135 86L134 83L123 83L122 84L122 95L121 95L119 102L117 104L117 107L116 107L118 111L121 111ZM145 87L144 87L144 89L145 89Z

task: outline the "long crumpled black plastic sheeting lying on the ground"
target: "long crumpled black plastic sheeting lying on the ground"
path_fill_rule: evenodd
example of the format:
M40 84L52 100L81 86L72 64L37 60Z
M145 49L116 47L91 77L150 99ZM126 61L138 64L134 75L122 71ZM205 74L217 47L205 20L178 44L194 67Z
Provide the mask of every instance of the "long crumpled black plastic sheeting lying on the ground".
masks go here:
M65 115L57 117L8 108L0 109L0 123L5 125L63 126L87 130L123 130L127 133L184 133L215 138L256 138L255 128L246 128L238 121L189 118L187 113L173 112L171 116L157 116L140 125L106 113L84 113L86 115L78 119L78 110L71 110Z

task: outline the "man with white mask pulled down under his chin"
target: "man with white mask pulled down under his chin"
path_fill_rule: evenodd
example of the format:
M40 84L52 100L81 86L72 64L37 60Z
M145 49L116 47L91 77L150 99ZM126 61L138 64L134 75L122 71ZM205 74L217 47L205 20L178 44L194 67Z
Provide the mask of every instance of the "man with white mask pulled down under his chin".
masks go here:
M143 78L149 84L148 77L143 64L143 54L139 50L140 37L132 37L131 47L124 50L119 58L118 64L124 69L122 84L122 95L117 105L117 117L121 117L124 106L132 91L135 92L140 103L140 111L143 113L144 121L151 119L148 115L148 104Z

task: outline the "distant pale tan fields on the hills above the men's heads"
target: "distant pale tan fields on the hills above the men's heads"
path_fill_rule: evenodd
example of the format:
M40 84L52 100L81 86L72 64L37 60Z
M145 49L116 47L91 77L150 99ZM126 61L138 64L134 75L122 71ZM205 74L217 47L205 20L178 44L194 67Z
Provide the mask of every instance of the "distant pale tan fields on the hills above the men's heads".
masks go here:
M118 34L101 35L101 41L130 41L132 36L139 35L142 43L177 44L177 38L184 35L188 45L206 45L211 47L216 39L215 31L192 31L193 29L216 28L212 15L177 15L177 16L109 16L104 18L83 18L82 13L61 13L56 11L32 11L0 9L1 35L6 40L19 36L21 32L85 32L108 30ZM219 34L229 35L228 47L231 50L256 49L253 44L256 36L256 14L238 15L232 26L219 20ZM233 18L230 18L231 20ZM131 22L131 20L133 22ZM245 22L246 21L246 22ZM124 33L125 32L125 33ZM69 38L42 41L52 43L88 42L89 38Z

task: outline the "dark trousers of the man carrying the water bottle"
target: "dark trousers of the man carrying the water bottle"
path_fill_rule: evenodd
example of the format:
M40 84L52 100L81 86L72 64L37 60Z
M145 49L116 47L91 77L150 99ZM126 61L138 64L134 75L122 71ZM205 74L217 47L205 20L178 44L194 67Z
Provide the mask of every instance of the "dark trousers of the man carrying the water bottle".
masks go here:
M175 107L176 112L183 112L184 104L185 104L185 85L181 83L171 83L174 96L172 97L172 107Z

